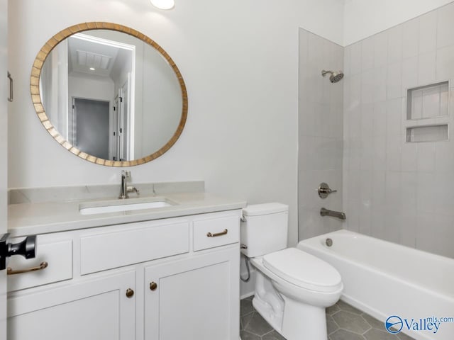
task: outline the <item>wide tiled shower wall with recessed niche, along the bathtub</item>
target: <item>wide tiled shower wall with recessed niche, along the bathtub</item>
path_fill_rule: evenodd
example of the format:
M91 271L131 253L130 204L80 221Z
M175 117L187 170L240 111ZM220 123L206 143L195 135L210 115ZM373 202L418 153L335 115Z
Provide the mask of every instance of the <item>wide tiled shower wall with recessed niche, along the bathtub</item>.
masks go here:
M345 47L347 229L454 257L454 3ZM406 120L406 89L449 82L448 116ZM442 96L422 103L446 105ZM421 109L421 106L418 107ZM449 140L406 142L413 125ZM301 215L300 215L301 216ZM300 217L301 218L301 217Z

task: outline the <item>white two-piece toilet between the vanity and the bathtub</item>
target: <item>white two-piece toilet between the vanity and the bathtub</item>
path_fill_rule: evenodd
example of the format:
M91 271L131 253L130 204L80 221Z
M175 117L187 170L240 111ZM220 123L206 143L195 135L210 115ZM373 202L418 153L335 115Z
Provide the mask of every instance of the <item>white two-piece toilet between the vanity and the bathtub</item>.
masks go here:
M287 248L287 205L248 205L241 251L256 271L253 305L287 340L326 340L325 308L341 297L341 275L330 264Z

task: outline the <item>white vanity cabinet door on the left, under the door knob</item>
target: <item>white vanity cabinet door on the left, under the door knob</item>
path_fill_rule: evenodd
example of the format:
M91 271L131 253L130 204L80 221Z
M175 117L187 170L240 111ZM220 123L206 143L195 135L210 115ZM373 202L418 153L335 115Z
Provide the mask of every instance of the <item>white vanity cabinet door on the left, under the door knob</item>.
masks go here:
M7 339L135 339L135 294L128 289L135 290L135 271L10 297Z

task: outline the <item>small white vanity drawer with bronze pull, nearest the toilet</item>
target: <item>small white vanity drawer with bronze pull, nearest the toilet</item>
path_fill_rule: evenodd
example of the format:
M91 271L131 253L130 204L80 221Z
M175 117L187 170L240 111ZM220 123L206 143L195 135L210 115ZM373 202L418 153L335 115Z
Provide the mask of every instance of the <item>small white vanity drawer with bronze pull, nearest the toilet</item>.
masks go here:
M194 221L194 251L224 246L239 240L238 215Z

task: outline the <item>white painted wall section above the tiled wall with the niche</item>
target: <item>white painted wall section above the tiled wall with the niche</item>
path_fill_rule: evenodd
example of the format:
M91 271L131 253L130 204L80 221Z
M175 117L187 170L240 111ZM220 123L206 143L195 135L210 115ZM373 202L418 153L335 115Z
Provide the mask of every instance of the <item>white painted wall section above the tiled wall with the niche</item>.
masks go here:
M452 0L346 0L343 45L370 37Z

